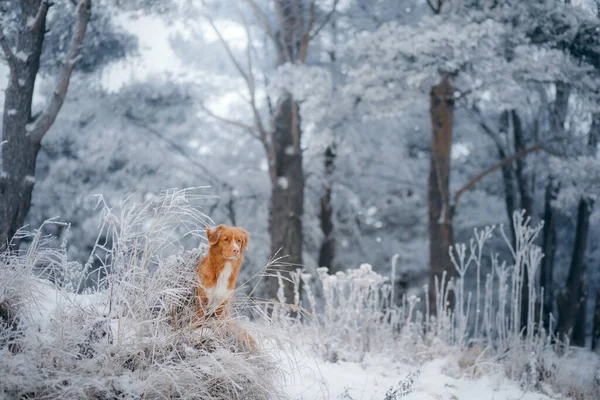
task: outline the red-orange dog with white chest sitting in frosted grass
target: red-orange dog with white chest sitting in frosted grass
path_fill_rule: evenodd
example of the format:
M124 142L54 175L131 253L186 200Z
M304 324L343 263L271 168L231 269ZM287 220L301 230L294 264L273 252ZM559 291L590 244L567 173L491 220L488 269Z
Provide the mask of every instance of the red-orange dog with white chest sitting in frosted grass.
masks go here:
M198 317L227 316L249 234L242 228L219 225L206 228L206 237L210 245L208 255L196 267L200 276Z

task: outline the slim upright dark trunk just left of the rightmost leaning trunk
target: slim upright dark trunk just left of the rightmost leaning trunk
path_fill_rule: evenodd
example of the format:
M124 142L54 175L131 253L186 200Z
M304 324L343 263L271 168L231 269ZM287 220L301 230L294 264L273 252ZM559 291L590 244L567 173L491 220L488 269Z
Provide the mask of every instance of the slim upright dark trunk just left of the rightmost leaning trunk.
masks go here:
M540 285L544 288L544 316L543 323L546 332L550 329L550 313L554 306L554 256L556 254L556 214L552 202L556 199L556 186L552 177L546 185L544 200L544 231L542 237L542 258Z

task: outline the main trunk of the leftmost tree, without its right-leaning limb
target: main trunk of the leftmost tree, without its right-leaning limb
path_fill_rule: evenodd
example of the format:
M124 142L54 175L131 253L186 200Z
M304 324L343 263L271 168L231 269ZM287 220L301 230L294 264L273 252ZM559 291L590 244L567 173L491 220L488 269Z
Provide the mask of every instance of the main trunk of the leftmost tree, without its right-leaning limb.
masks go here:
M40 143L30 136L27 126L33 122L33 90L46 27L45 18L37 29L27 28L27 21L35 19L40 3L40 0L23 1L19 21L21 28L14 52L20 56L9 60L10 78L4 97L1 140L4 144L0 171L0 250L6 249L9 242L9 248L18 248L18 238L12 238L25 222L35 183Z

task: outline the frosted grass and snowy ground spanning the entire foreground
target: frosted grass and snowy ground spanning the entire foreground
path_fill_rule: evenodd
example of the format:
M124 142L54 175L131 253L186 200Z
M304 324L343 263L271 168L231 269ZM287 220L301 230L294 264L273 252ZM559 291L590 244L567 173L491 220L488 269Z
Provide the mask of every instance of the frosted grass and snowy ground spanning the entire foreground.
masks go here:
M540 227L522 214L514 248L505 237L513 259L490 255L489 274L484 247L502 228L452 249L458 277L434 288L437 316L414 295L393 304L389 277L363 264L314 277L299 270L289 277L294 299L240 294L230 318L198 329L197 243L212 222L196 200L171 191L111 208L100 198L86 265L70 262L66 242L55 245L44 227L20 233L27 250L0 256L0 399L600 398L598 357L543 330L535 287L521 329L522 277L535 277L542 256ZM78 293L84 282L93 290Z

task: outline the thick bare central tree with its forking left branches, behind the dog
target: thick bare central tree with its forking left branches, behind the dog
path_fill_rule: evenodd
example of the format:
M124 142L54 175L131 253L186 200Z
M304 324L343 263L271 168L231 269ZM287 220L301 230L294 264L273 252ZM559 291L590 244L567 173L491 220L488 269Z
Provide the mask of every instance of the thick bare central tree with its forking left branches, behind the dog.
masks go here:
M329 22L335 12L337 0L333 9L327 13L320 23L316 21L315 0L274 0L276 11L275 26L271 26L265 12L254 0L246 0L254 16L262 26L265 34L271 40L276 54L277 65L304 64L308 55L311 41ZM308 20L306 18L308 16ZM243 19L243 18L242 18ZM302 218L304 215L304 170L302 166L302 126L300 123L300 105L291 93L283 93L269 108L270 121L265 123L261 117L256 101L256 79L252 70L252 55L250 49L250 29L244 20L248 35L246 52L246 67L236 59L214 23L208 18L219 40L235 68L244 79L250 98L253 115L252 124L215 115L204 107L204 110L214 118L232 126L243 129L262 144L269 165L271 180L271 202L269 215L269 234L271 236L271 253L285 257L281 265L284 277L284 295L287 300L293 299L293 286L286 281L288 272L294 271L302 262ZM265 295L275 298L278 290L278 280L269 276L265 282Z

